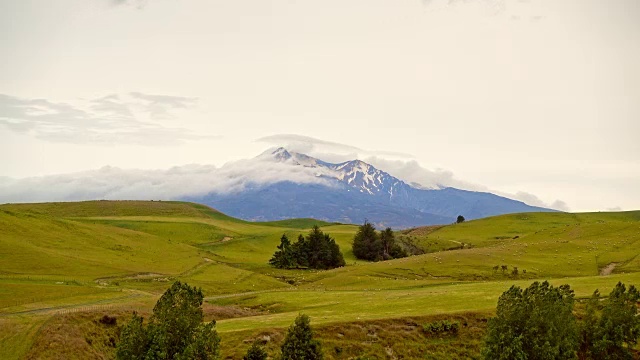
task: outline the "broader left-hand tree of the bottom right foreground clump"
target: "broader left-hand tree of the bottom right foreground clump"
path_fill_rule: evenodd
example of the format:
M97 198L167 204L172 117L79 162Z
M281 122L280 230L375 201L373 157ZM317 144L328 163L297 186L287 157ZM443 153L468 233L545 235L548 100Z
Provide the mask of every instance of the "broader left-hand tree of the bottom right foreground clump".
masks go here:
M485 359L575 359L578 330L574 294L568 285L534 282L524 291L512 286L489 320Z

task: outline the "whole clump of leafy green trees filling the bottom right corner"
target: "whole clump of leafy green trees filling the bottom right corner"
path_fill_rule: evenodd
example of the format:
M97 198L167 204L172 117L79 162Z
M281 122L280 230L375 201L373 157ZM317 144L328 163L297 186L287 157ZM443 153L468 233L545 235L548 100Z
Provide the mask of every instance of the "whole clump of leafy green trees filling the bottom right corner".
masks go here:
M632 359L640 337L640 293L618 283L602 301L596 290L583 320L573 313L569 285L512 286L498 300L482 355L485 359Z

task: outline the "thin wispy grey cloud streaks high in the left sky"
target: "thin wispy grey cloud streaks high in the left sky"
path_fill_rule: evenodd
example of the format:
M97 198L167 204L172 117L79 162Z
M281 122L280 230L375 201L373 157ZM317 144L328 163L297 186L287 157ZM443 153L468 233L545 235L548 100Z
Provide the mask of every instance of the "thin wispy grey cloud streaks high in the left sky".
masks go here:
M153 121L171 117L172 109L186 108L195 99L135 94L111 94L78 105L0 94L0 126L63 143L163 146L214 138Z

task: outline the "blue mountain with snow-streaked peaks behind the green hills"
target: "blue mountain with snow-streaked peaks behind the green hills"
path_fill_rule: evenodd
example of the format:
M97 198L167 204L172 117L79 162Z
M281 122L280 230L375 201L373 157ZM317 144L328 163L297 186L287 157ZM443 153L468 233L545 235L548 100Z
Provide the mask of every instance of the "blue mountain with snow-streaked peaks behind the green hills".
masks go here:
M367 219L378 227L393 228L447 224L458 215L471 220L515 212L553 211L486 192L412 186L360 160L333 164L284 148L263 153L257 159L315 179L296 181L284 175L288 172L282 172L282 179L277 181L250 182L240 191L185 200L246 220L310 217L360 224Z

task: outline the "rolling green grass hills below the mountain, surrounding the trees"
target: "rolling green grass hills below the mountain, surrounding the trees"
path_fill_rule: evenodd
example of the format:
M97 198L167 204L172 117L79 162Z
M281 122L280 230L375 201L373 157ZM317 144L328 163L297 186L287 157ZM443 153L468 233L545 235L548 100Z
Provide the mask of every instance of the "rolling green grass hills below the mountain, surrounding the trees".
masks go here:
M347 266L313 271L268 265L283 233L296 238L315 224L336 238ZM217 309L210 318L218 319L229 358L241 357L238 349L251 337L271 333L278 339L304 312L333 347L326 353L330 359L358 352L377 358L383 350L379 358L389 352L413 356L407 355L411 351L438 358L438 344L455 347L459 341L407 330L413 340L403 352L382 346L394 335L381 324L460 314L480 324L513 284L549 279L570 284L579 297L595 289L606 294L618 281L640 284L640 211L513 214L404 230L398 236L426 253L379 263L354 258L356 231L354 225L313 219L251 223L184 202L0 205L2 358L54 357L51 349L58 347L47 339L56 326L69 327L69 334L102 334L84 343L62 337L72 350L60 358L73 358L74 351L77 358L112 358L113 329L83 321L105 306L121 321L132 309L149 312L174 280L202 287L207 306ZM385 335L365 346L330 333L360 323ZM468 329L464 336L475 345L460 356L477 355L481 328ZM275 351L274 344L268 347Z

